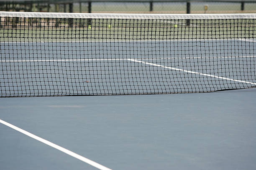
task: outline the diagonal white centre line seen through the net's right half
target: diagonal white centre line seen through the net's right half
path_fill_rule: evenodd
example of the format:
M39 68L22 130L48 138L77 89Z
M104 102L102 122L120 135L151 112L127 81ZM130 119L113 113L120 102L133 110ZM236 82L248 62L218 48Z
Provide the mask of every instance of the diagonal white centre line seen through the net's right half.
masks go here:
M256 83L253 83L253 82L236 80L236 79L231 79L231 78L226 78L226 77L220 77L220 76L216 76L216 75L210 75L210 74L205 74L205 73L200 73L200 72L195 72L195 71L182 70L182 69L179 69L179 68L167 67L167 66L164 66L164 65L154 64L154 63L151 63L151 62L143 62L143 61L134 60L134 59L127 59L127 60L130 60L130 61L133 61L133 62L140 62L140 63L147 64L147 65L153 65L153 66L156 66L156 67L163 67L163 68L168 68L168 69L177 70L177 71L183 71L183 72L188 72L188 73L193 73L193 74L198 74L198 75L204 75L204 76L208 76L208 77L215 77L215 78L219 78L219 79L223 79L223 80L231 80L231 81L235 81L235 82L243 82L243 83L256 85Z

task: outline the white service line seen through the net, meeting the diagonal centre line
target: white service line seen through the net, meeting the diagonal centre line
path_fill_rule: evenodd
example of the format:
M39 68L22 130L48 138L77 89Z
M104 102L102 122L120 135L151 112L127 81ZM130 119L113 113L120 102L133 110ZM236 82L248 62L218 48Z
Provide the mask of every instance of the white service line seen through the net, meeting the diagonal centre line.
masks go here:
M166 59L179 59L179 60L189 60L189 59L200 59L200 58L253 58L255 55L249 56L231 56L231 57L163 57L163 58L133 58L133 60L166 60ZM74 62L74 61L125 61L130 60L130 58L81 58L81 59L51 59L51 60L0 60L0 62Z

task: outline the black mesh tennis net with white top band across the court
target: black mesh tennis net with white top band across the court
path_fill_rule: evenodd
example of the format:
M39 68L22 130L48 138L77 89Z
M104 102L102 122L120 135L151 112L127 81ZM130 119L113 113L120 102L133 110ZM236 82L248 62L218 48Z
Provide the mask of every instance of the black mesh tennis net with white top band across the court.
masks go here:
M0 12L0 96L256 87L256 14Z

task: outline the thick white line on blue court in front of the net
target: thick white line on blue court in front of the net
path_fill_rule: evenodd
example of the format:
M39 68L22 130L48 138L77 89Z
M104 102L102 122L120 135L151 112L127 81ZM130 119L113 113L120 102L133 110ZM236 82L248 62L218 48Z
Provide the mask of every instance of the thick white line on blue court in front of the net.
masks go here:
M43 138L40 138L40 137L38 137L38 136L36 136L36 135L33 135L32 133L29 133L29 132L27 132L26 130L20 129L20 128L18 128L17 126L14 126L14 125L12 125L12 124L10 124L10 123L8 123L8 122L5 122L5 121L3 121L3 120L1 120L1 119L0 119L0 123L2 123L3 125L8 126L8 127L10 127L10 128L13 128L14 130L17 130L18 132L23 133L24 135L27 135L27 136L29 136L29 137L35 139L35 140L38 140L38 141L40 141L41 143L44 143L44 144L46 144L46 145L49 145L49 146L51 146L52 148L55 148L55 149L57 149L57 150L60 150L61 152L66 153L66 154L68 154L68 155L70 155L70 156L72 156L72 157L74 157L74 158L77 158L77 159L79 159L79 160L82 160L84 163L90 164L90 165L92 165L92 166L95 167L95 168L98 168L98 169L100 169L100 170L111 170L111 169L109 169L109 168L107 168L107 167L105 167L105 166L103 166L103 165L100 165L100 164L98 164L98 163L96 163L96 162L94 162L94 161L92 161L92 160L90 160L90 159L84 158L83 156L78 155L77 153L74 153L74 152L72 152L72 151L70 151L70 150L67 150L67 149L65 149L65 148L62 148L62 147L59 146L59 145L56 145L56 144L54 144L54 143L51 143L50 141L45 140L45 139L43 139Z

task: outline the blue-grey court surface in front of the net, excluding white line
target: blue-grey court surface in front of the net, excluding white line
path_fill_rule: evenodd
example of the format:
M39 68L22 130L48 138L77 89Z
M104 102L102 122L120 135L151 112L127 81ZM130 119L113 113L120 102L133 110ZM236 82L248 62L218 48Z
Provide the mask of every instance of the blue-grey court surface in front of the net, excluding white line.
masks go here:
M0 117L113 170L256 168L256 91L0 98ZM0 124L5 170L96 170Z

